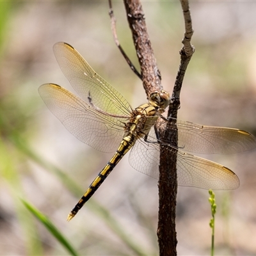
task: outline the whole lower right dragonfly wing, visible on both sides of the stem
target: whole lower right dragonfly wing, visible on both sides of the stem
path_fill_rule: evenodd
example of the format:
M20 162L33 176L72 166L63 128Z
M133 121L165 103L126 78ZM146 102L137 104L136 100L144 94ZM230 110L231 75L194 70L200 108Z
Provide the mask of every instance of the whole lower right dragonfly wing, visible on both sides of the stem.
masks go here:
M148 141L157 141L154 128L148 134ZM170 157L177 150L166 145ZM159 145L147 143L140 139L132 147L129 163L139 172L159 179ZM179 186L191 186L203 189L236 189L239 179L236 174L222 166L201 157L177 152L177 177Z

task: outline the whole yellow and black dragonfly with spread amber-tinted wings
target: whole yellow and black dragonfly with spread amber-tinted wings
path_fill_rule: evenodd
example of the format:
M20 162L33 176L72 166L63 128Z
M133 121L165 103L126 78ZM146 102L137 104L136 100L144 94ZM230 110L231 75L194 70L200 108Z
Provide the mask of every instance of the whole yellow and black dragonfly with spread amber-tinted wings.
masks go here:
M152 92L146 104L133 109L113 86L100 77L71 45L58 42L53 47L60 68L80 97L57 84L43 84L38 92L51 112L66 129L102 152L115 152L68 214L67 220L91 198L116 164L131 150L129 163L141 173L159 179L159 145L177 155L179 186L203 189L236 189L239 179L227 167L194 156L232 154L256 147L249 132L225 127L193 124L164 118L170 103L168 92ZM169 123L167 125L167 122ZM178 132L178 145L162 141L157 129ZM172 159L172 158L171 158Z

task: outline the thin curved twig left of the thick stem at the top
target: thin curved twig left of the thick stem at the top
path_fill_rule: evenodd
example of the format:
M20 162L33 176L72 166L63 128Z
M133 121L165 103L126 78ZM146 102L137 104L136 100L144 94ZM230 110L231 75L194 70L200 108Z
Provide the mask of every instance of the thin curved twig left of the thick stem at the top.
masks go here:
M129 57L125 53L124 49L120 45L120 42L119 42L119 40L117 38L116 19L115 19L115 16L114 16L111 0L109 0L108 3L109 3L109 16L110 16L110 19L111 19L111 30L112 30L112 34L114 36L115 44L118 47L118 49L120 50L120 52L122 53L122 55L124 56L124 58L127 61L128 65L130 66L131 70L141 79L141 74L138 72L136 67L134 67L134 65L132 64L132 61L129 59Z

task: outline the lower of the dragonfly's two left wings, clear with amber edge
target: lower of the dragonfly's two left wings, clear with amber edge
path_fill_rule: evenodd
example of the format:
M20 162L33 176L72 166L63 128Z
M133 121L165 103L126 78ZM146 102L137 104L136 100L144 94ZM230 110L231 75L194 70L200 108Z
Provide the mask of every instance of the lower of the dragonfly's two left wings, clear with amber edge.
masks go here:
M38 92L47 107L77 139L102 152L116 150L124 136L123 122L127 119L99 112L56 84L43 84Z

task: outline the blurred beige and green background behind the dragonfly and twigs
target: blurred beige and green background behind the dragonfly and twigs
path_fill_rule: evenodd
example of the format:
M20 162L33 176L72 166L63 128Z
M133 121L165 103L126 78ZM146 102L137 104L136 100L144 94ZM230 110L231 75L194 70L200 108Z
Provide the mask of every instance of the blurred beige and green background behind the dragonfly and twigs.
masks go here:
M181 93L179 119L256 135L256 3L193 1L196 51ZM136 67L122 2L114 2L120 44ZM143 2L164 90L172 92L184 21L179 2ZM113 42L107 1L0 2L0 255L68 255L20 198L48 216L80 255L157 255L157 180L118 164L74 220L67 214L109 161L78 141L38 95L44 83L71 92L52 52L67 42L132 106L141 81ZM255 150L204 156L234 170L241 186L216 191L216 255L256 254ZM177 251L209 255L208 191L179 187Z

